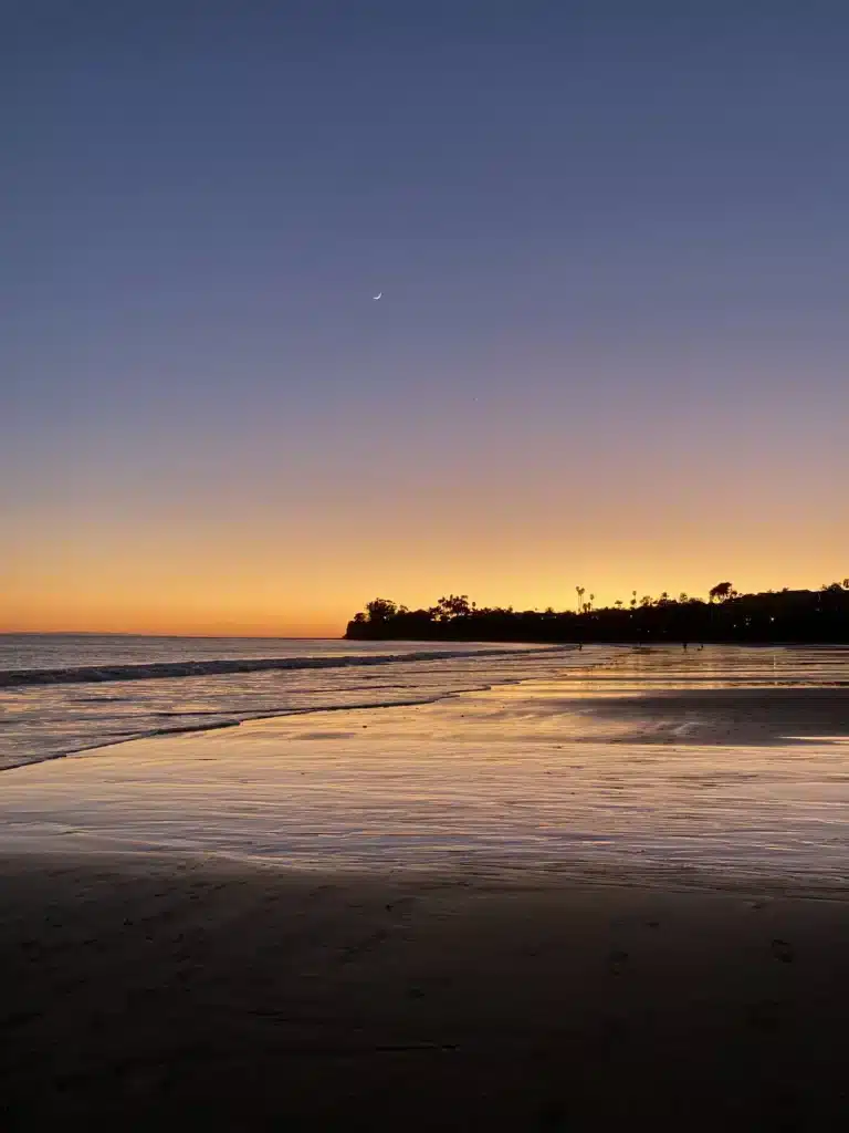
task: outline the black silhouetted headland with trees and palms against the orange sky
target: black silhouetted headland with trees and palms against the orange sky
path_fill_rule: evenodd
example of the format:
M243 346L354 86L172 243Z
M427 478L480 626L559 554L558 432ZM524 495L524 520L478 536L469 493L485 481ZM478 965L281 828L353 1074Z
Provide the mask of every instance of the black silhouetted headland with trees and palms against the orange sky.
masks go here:
M594 595L575 587L577 610L514 610L478 606L449 594L427 610L408 610L375 598L349 623L357 640L693 642L808 641L849 644L849 578L818 590L738 594L730 582L714 586L705 602L666 591L595 608Z

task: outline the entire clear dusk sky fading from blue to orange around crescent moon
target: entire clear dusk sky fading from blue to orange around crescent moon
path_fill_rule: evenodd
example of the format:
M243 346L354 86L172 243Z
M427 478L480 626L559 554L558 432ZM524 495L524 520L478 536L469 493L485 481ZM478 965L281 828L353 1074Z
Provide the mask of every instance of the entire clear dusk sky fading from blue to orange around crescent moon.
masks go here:
M0 630L849 574L846 3L1 25Z

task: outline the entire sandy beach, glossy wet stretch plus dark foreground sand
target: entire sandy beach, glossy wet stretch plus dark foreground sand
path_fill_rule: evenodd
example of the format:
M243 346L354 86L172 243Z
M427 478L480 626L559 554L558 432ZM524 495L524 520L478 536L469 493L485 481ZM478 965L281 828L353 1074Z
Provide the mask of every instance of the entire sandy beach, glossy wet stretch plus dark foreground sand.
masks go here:
M6 1126L839 1127L846 672L623 650L3 772Z

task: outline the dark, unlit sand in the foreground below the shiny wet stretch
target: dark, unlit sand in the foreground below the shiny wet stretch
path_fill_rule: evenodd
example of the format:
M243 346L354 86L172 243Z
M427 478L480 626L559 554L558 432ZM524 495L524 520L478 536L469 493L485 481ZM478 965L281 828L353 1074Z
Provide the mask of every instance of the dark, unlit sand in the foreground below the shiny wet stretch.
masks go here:
M2 1128L832 1130L849 905L0 863Z

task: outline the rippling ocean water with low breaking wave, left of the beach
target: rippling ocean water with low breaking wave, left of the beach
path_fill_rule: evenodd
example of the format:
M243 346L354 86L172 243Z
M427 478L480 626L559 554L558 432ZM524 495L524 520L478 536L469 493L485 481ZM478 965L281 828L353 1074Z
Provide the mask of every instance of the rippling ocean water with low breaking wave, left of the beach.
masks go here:
M0 769L261 717L423 704L578 661L574 647L6 633Z

